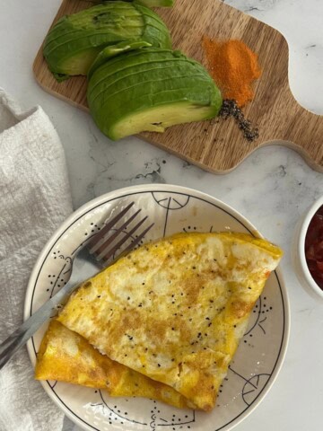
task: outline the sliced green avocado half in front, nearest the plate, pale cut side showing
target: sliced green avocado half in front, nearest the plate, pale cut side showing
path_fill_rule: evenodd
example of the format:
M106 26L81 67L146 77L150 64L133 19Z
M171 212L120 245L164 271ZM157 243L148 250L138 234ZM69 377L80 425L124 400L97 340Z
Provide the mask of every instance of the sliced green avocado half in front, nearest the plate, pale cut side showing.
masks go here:
M142 48L109 59L92 74L92 117L112 140L213 119L222 97L212 77L179 51Z

